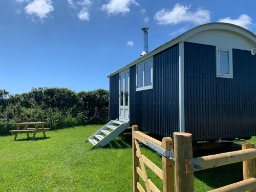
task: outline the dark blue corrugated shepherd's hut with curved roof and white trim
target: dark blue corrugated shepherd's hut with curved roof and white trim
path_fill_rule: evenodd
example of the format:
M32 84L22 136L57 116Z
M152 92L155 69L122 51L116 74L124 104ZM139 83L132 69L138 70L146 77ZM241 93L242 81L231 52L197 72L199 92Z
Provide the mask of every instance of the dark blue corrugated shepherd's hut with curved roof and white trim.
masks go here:
M108 75L110 120L194 140L256 135L256 35L209 23Z

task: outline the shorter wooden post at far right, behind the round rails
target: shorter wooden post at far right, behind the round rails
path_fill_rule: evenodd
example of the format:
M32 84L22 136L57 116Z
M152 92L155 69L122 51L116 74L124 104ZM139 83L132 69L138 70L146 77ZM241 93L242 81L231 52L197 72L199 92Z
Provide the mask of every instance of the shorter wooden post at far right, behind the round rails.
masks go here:
M246 150L247 148L254 148L254 143L245 142L242 143L242 150ZM255 177L255 159L249 159L243 161L243 173L244 180ZM247 191L247 192L256 192L256 189Z

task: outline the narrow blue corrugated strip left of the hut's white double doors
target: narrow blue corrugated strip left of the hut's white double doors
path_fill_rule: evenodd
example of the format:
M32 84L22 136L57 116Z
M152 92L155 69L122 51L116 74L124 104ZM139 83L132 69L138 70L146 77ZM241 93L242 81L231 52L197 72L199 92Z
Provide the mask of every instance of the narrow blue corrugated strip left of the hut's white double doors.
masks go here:
M119 116L119 74L110 77L110 120Z

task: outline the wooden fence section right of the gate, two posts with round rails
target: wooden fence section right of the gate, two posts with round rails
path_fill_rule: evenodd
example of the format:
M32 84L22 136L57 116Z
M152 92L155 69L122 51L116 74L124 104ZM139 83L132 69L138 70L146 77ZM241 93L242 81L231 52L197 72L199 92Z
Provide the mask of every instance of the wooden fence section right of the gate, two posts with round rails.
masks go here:
M244 180L211 192L255 191L254 143L242 143L242 150L193 158L191 134L174 133L176 191L194 191L194 172L243 161Z

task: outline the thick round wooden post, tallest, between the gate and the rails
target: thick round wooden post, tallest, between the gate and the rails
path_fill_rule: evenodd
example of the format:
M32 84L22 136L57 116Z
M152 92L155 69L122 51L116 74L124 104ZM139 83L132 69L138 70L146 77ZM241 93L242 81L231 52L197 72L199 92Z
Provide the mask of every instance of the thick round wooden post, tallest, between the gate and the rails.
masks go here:
M176 192L194 191L194 173L186 173L186 159L193 158L192 139L189 133L174 133Z

